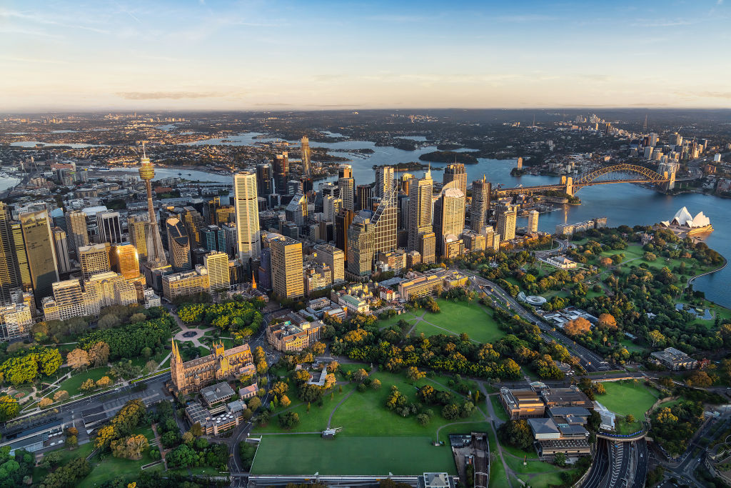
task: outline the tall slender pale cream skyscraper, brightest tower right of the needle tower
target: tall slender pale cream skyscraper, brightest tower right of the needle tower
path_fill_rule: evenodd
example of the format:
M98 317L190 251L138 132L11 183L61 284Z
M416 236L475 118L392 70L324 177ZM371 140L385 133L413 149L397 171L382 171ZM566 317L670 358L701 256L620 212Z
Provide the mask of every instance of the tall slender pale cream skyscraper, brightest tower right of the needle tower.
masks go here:
M257 176L245 171L233 177L238 230L238 258L246 263L257 259L262 250L257 201Z

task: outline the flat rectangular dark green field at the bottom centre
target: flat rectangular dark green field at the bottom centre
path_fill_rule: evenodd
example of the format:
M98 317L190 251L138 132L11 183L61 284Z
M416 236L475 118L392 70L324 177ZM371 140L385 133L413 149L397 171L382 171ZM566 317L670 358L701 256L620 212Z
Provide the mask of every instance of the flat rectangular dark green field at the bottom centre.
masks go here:
M393 414L392 414L393 415ZM319 435L264 436L251 473L306 475L414 474L442 471L456 474L448 443L432 446L429 437ZM282 462L286 459L286 462Z

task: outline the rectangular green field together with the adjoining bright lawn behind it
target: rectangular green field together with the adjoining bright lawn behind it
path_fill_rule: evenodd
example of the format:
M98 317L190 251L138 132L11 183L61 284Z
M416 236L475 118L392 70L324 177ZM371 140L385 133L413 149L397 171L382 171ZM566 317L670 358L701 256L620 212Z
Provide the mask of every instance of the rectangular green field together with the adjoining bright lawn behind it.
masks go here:
M362 365L352 366L357 369ZM390 372L375 372L371 377L382 382L379 390L368 389L361 393L354 391L355 384L351 384L344 386L342 394L338 394L335 388L332 400L330 394L326 394L323 408L313 404L310 413L306 413L306 405L303 404L292 408L291 411L300 414L300 424L289 431L292 435L267 435L287 432L279 427L276 418L272 418L267 426L254 429L253 435L262 435L262 443L254 459L252 473L404 474L429 469L455 473L447 436L457 432L489 432L489 424L484 421L480 410L475 410L468 418L448 421L441 416L441 408L435 405L430 424L423 427L414 416L403 418L385 408L392 385L409 397L409 402L415 402L417 386L431 383L441 390L444 386L434 385L433 381L446 385L447 378L423 378L414 386L403 375ZM343 401L351 391L352 394ZM343 428L335 440L323 440L319 434L295 434L325 429L327 418L341 401L331 423L332 427ZM457 401L462 402L463 399ZM440 430L440 427L443 428ZM437 435L446 446L431 446L431 440ZM281 459L288 462L282 463Z

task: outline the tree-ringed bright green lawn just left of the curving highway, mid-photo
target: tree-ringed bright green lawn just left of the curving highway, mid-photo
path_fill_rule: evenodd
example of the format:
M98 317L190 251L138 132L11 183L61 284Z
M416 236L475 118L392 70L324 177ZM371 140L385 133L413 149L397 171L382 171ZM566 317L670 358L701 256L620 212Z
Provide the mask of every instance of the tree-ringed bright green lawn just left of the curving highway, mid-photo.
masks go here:
M505 335L488 310L480 304L468 304L466 301L437 300L442 312L426 312L423 320L417 324L416 331L425 336L434 334L454 334L463 332L477 342L495 342Z

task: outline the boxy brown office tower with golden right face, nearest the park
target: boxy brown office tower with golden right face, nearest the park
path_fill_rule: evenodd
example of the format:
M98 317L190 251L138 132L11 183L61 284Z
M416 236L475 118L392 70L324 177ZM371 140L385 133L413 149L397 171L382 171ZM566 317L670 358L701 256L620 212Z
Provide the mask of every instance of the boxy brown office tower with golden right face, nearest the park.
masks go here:
M272 288L276 296L297 299L305 294L302 266L302 243L281 236L269 243Z

